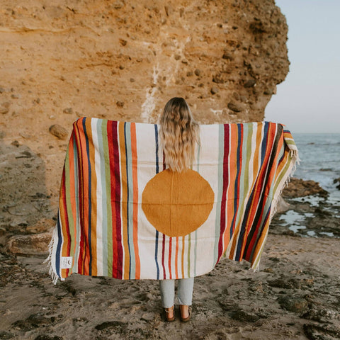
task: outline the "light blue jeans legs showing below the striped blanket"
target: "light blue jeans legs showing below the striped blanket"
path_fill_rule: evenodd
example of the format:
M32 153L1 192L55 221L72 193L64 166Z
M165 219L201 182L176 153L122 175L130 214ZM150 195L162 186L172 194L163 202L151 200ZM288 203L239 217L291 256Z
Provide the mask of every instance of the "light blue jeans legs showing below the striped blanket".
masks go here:
M193 301L193 278L180 278L177 287L177 297L180 305L191 306ZM175 280L159 280L162 307L170 308L175 301Z

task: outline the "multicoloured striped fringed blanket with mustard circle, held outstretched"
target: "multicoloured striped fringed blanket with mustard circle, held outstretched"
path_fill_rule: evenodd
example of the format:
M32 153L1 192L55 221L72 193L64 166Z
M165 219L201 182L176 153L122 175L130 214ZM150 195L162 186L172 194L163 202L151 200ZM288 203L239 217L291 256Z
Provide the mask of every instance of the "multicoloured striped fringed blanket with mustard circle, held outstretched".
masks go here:
M297 148L276 123L200 125L191 170L166 169L159 126L80 118L64 161L50 274L188 278L223 256L257 269Z

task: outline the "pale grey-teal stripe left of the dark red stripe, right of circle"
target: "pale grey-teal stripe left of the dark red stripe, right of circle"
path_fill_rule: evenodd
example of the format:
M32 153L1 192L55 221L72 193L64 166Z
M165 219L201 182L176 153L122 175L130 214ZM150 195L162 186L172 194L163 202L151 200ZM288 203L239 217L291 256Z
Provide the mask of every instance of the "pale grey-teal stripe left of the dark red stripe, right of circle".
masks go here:
M218 125L218 186L217 186L217 203L215 219L215 244L214 244L214 263L218 260L218 242L221 231L221 202L223 191L223 156L225 153L225 129L223 124Z

